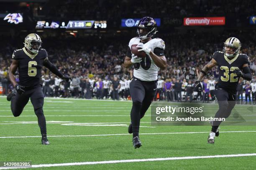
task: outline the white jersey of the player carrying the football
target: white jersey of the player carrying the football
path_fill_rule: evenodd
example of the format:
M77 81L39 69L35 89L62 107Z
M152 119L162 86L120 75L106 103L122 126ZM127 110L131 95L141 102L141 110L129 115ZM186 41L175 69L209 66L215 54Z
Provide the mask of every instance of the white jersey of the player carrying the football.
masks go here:
M141 40L138 37L134 37L129 42L129 47L133 44L138 44ZM144 46L151 49L154 52L156 47L165 48L164 41L160 38L154 38L144 44ZM159 67L156 66L154 61L150 56L146 56L142 58L143 60L140 63L134 64L134 77L143 80L143 81L154 81L157 80L158 71L160 70Z

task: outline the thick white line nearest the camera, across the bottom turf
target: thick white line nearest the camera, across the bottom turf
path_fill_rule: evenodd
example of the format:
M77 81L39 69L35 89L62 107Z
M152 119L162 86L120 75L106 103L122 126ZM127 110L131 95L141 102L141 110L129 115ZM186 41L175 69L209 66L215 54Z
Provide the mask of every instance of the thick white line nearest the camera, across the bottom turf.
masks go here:
M110 163L114 164L114 163L152 162L152 161L164 161L164 160L231 158L231 157L245 157L245 156L256 156L256 153L232 154L232 155L186 156L186 157L169 157L169 158L147 158L147 159L133 159L133 160L105 160L105 161L80 162L80 163L54 163L54 164L32 165L31 168L75 166L75 165L97 165L97 164L110 164ZM0 169L9 169L9 168L0 168ZM16 169L16 168L10 168L10 169Z

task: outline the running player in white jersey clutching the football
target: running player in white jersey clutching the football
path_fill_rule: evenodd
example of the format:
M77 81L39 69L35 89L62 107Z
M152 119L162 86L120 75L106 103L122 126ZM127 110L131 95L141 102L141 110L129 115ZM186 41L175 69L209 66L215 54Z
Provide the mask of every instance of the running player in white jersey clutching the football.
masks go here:
M142 18L137 25L138 37L130 40L124 67L134 66L133 79L130 83L130 93L133 100L131 109L131 124L128 132L133 133L133 147L141 147L139 139L140 120L145 115L154 100L157 87L157 75L160 69L167 67L164 56L164 41L152 38L156 34L156 21L150 17ZM131 52L131 46L137 44L138 51L144 51L146 57L140 58Z

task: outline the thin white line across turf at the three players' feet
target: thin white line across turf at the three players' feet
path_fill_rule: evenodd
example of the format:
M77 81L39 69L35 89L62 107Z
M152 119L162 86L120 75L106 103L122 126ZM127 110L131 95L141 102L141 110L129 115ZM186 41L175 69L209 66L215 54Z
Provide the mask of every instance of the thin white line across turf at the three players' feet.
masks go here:
M256 131L225 131L221 133L246 133L246 132L256 132ZM195 134L195 133L209 133L209 132L170 132L170 133L140 133L140 135L167 135L167 134ZM121 136L121 135L131 135L129 133L123 134L103 134L103 135L53 135L48 137L92 137L92 136ZM38 138L41 136L3 136L3 138Z

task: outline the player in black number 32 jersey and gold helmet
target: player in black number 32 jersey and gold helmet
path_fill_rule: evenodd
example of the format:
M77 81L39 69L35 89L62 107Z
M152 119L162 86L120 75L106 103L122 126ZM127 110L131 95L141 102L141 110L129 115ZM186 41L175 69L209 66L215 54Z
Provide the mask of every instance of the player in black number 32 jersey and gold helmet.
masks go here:
M212 60L205 65L195 83L195 90L201 91L200 81L207 72L218 65L219 80L215 85L215 96L218 100L219 110L216 118L227 118L236 105L237 85L240 77L251 80L249 58L240 54L241 42L236 37L230 37L224 42L223 51L214 52ZM214 143L215 136L219 136L218 127L221 121L212 121L212 130L208 137L208 143Z

